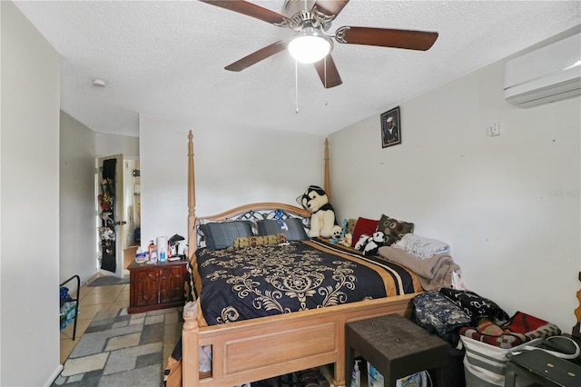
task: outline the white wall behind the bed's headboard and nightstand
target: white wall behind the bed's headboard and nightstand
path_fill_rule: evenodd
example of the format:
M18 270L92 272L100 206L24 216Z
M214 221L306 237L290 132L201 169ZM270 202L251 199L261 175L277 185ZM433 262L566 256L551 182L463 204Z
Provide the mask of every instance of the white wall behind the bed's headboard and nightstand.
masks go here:
M310 184L323 184L319 136L197 127L177 118L140 115L142 244L159 235L187 237L188 133L194 143L196 213L211 215L254 202L298 205Z

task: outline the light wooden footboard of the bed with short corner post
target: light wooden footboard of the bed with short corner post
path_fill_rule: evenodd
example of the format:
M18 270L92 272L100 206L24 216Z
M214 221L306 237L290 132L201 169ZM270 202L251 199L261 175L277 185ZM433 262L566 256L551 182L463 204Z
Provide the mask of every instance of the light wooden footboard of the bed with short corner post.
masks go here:
M183 309L184 386L231 387L334 364L333 383L345 384L345 323L399 313L411 317L418 293L200 328L195 303ZM212 345L212 376L200 379L199 347Z

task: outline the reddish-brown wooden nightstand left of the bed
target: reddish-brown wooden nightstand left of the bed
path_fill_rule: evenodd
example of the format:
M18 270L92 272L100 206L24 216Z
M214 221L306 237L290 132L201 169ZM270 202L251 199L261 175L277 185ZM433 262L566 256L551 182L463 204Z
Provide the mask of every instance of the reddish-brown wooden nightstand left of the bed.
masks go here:
M187 261L136 263L129 269L128 313L149 312L155 309L183 306Z

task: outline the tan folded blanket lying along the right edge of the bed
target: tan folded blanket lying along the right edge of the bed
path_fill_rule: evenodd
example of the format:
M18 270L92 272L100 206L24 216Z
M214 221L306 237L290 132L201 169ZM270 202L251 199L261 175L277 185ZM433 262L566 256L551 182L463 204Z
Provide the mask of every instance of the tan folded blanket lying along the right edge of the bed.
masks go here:
M392 247L379 247L379 256L407 267L419 277L424 290L449 288L452 283L452 272L459 271L460 266L447 253L440 253L428 259L421 259L403 250Z

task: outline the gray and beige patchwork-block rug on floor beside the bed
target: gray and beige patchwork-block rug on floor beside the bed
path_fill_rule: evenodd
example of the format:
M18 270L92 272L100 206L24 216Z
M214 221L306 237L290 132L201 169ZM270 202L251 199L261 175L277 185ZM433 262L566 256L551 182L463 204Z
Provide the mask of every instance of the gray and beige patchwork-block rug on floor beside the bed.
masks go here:
M53 386L162 386L163 369L182 332L182 308L95 315Z

